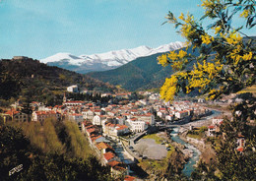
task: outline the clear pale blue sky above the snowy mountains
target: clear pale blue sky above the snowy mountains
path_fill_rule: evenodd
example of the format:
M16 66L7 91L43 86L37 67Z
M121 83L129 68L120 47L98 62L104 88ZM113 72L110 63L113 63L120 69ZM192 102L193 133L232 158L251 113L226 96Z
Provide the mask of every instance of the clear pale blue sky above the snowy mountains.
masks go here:
M0 58L91 55L184 41L173 25L161 24L168 11L200 18L199 4L200 0L0 0Z

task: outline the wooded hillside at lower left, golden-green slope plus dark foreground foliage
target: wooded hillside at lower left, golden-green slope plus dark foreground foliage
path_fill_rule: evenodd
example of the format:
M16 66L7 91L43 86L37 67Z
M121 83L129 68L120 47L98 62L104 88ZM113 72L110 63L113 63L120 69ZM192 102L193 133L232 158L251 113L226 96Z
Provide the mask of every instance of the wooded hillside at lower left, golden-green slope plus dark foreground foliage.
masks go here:
M7 124L0 120L0 180L111 180L75 123Z

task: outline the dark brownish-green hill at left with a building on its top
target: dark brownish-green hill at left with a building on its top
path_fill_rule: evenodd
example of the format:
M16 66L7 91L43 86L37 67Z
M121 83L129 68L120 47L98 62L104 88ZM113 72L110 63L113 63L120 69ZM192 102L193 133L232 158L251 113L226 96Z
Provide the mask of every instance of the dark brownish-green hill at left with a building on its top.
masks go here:
M2 99L20 97L28 102L37 100L47 104L58 103L63 91L71 85L78 85L81 90L117 91L87 75L47 66L26 57L1 60L0 81Z

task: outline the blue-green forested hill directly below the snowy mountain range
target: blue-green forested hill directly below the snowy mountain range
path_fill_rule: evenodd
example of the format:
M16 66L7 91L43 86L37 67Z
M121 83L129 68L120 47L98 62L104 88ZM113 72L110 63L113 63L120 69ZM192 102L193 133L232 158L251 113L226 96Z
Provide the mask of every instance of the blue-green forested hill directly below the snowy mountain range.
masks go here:
M192 49L189 48L187 51L191 53ZM157 58L160 54L162 53L137 58L114 70L87 75L128 91L160 88L165 78L172 74L170 66L162 67L158 64Z

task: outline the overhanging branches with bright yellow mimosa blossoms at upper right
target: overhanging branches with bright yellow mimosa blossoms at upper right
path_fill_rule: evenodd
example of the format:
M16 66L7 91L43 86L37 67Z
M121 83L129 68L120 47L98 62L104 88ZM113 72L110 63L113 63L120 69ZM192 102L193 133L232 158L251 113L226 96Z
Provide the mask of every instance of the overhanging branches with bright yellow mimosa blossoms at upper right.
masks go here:
M198 89L215 99L222 94L241 91L255 85L255 40L246 36L243 41L241 30L255 26L255 1L253 0L203 0L201 7L205 15L199 20L189 13L178 17L169 12L167 22L180 28L187 44L197 48L199 56L185 51L170 51L159 56L162 66L170 65L178 71L166 78L160 89L165 100L172 100L178 91L186 93ZM236 28L231 20L240 13L246 25ZM204 21L214 22L205 30ZM211 35L213 34L213 35ZM192 70L184 70L186 65L196 60Z

